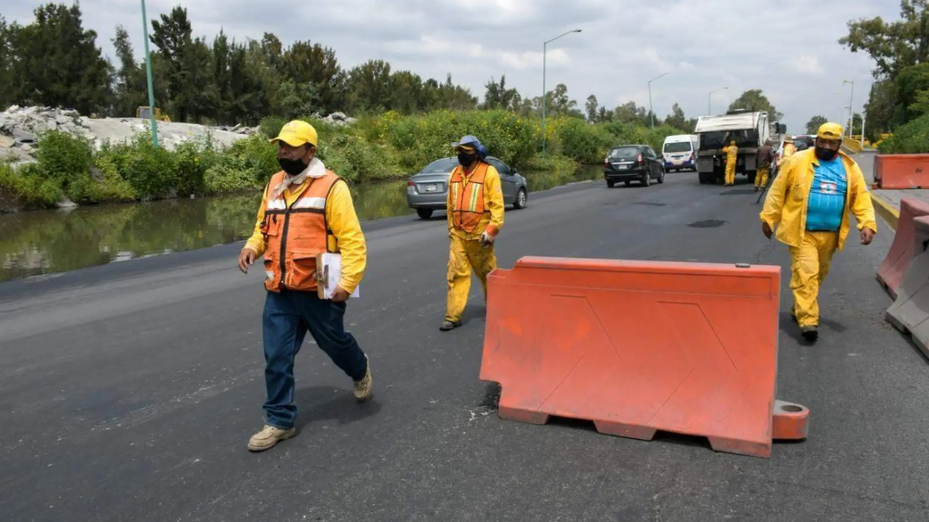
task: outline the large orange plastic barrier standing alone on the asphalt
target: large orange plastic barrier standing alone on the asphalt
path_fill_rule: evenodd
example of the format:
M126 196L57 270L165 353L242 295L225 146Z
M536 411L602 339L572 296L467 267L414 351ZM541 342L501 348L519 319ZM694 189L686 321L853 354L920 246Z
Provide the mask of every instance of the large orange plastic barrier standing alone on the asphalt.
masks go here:
M488 279L480 378L507 419L769 457L809 419L775 401L779 294L779 267L524 257Z

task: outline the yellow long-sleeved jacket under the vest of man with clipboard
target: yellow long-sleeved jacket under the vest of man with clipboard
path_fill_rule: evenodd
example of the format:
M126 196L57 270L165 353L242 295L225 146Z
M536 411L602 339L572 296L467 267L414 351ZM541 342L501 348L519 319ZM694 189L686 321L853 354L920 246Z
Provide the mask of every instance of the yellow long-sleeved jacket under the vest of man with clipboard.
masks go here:
M296 201L297 196L303 189L306 189L310 181L312 179L307 178L299 187L284 190L284 199L288 206ZM244 248L254 250L259 256L265 253L268 246L265 237L261 234L261 222L265 219L265 208L268 206L267 198L268 190L265 190L261 197L261 206L258 207L255 231L244 246ZM355 214L351 192L344 182L336 182L326 199L326 223L333 230L336 241L336 245L330 245L330 248L337 246L338 252L342 254L342 280L339 281L339 286L351 294L364 276L368 247L364 241L364 234L361 232L358 215Z

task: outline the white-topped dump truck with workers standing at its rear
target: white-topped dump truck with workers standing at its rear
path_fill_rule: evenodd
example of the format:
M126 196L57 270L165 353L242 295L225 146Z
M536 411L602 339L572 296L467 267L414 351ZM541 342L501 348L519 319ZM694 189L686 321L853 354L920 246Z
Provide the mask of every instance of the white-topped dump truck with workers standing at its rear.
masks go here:
M786 126L778 124L778 130ZM697 175L700 183L718 183L726 176L726 153L723 147L735 139L739 146L736 173L754 182L758 169L758 148L771 138L771 124L765 111L728 111L717 116L700 116L694 134L700 137L697 150ZM777 144L775 144L777 146Z

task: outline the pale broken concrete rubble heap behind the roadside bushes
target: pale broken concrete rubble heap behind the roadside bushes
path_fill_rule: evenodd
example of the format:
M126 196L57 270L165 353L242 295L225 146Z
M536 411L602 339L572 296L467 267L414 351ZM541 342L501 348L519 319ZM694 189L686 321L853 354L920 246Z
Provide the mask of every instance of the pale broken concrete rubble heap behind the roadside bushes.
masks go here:
M355 119L342 112L321 118L329 124L344 126ZM242 137L259 132L258 127L244 125L206 126L177 122L157 122L158 143L172 150L178 144L209 135L219 147L227 147ZM0 161L28 163L35 161L35 143L43 133L52 130L85 137L95 148L104 143L124 143L137 134L149 131L149 120L138 118L88 118L77 111L49 107L12 106L0 112Z

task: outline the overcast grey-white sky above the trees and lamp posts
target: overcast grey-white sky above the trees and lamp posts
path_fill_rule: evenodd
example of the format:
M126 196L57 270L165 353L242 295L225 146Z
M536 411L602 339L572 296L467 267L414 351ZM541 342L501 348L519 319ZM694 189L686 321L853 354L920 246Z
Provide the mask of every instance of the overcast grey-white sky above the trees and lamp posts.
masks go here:
M70 3L70 2L69 2ZM34 0L4 0L7 20L33 20ZM177 0L149 0L149 19ZM896 20L896 0L338 0L288 5L252 0L182 3L196 35L212 40L220 28L237 39L275 33L287 45L310 40L335 49L345 68L386 59L455 83L482 97L484 84L506 75L523 96L542 93L543 41L582 29L549 44L548 88L568 85L580 107L595 94L610 108L629 100L648 107L648 80L655 112L677 102L687 117L722 111L747 89L760 88L792 133L815 114L836 119L847 107L861 110L871 84L870 59L837 40L848 20L882 16ZM138 0L83 0L85 28L112 57L110 39L122 23L141 53ZM841 93L837 96L836 92Z

